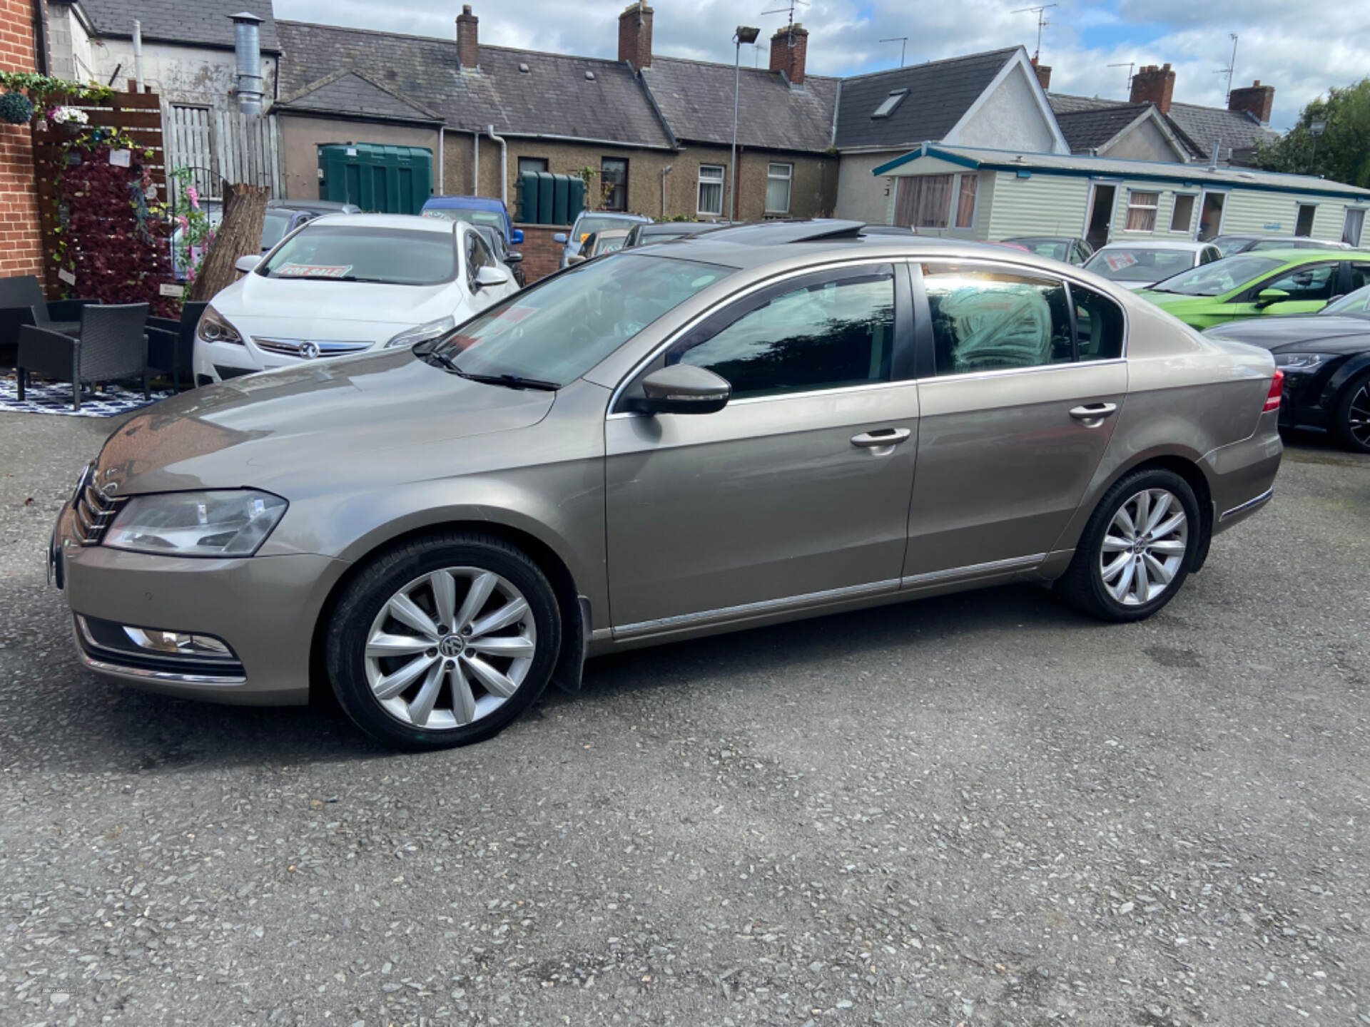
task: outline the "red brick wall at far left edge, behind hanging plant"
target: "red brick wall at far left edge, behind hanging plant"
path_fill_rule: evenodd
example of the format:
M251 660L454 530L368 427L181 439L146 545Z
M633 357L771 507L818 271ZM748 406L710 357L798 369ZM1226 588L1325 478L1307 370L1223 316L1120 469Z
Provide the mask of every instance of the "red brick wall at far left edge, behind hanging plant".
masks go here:
M34 71L33 3L0 0L0 68ZM42 277L38 190L27 125L0 122L0 278Z

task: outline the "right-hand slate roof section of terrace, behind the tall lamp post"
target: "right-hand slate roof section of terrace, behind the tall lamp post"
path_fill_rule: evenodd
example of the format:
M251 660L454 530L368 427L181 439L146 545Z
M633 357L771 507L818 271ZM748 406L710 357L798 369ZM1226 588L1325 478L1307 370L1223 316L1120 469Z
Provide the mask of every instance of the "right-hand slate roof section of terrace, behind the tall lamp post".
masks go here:
M643 81L675 138L726 147L733 141L733 74L732 64L653 53ZM795 89L778 71L741 68L737 142L763 149L827 149L837 81L804 75L803 88Z

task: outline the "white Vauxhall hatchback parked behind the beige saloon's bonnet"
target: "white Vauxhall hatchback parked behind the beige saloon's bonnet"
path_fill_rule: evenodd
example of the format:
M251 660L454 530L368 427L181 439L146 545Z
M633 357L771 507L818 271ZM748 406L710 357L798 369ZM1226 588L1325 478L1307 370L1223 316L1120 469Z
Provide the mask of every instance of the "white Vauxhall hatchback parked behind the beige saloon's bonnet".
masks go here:
M412 346L518 292L470 225L399 214L325 215L240 266L196 329L196 385Z

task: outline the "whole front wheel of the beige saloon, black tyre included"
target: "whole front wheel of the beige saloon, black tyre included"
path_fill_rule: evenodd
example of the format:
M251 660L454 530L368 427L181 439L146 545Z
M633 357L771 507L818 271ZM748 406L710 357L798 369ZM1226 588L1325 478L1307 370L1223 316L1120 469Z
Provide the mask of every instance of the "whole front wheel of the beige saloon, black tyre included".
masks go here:
M325 665L363 731L444 749L490 738L532 705L560 642L537 564L499 538L443 534L392 549L347 586Z

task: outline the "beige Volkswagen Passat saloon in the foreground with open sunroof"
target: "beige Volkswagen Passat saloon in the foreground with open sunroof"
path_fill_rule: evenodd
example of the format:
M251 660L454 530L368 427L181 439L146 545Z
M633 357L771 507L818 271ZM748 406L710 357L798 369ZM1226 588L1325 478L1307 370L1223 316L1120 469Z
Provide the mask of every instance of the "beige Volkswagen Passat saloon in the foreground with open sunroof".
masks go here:
M859 229L614 253L149 408L53 534L81 659L226 702L326 681L381 739L459 745L626 646L1012 581L1138 620L1270 498L1267 351Z

